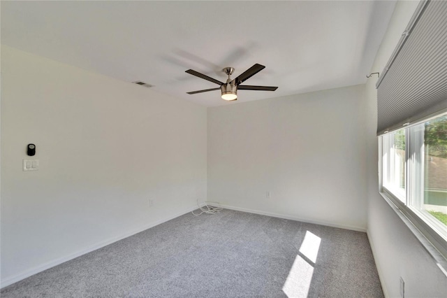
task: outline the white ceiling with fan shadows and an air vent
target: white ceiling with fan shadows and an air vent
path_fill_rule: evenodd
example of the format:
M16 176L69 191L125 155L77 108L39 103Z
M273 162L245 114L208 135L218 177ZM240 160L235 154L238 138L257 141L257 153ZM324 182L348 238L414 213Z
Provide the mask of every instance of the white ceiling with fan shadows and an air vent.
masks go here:
M395 1L1 1L1 43L206 106L219 87L266 68L237 102L365 83ZM374 70L379 71L379 70ZM135 85L135 87L140 87Z

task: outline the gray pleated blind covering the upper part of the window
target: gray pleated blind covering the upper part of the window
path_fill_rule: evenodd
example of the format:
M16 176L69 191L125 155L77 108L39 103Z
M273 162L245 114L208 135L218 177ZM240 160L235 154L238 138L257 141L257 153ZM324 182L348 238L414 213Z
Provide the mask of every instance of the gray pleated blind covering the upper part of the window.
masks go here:
M421 1L377 81L377 134L447 108L447 1Z

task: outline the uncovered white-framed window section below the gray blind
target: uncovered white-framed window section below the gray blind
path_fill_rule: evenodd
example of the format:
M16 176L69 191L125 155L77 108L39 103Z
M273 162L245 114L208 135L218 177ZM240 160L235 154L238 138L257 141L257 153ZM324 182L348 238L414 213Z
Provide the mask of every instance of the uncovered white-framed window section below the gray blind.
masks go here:
M381 136L381 190L447 258L447 113Z

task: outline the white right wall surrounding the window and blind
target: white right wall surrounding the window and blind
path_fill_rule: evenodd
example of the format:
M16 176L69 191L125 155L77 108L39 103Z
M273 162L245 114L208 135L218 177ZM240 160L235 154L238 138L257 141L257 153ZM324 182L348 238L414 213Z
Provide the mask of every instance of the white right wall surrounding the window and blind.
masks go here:
M382 71L397 41L416 10L418 1L398 1L388 31L376 55L372 71ZM405 281L405 297L446 297L447 278L402 220L379 195L376 79L365 85L368 113L368 225L367 232L381 277L389 297L400 297L400 277Z

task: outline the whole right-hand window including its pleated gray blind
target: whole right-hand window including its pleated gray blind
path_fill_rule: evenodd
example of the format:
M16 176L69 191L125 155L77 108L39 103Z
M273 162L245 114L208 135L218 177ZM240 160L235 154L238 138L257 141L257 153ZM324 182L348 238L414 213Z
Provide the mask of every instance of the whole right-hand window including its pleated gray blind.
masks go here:
M377 88L383 198L447 276L447 1L420 1Z

